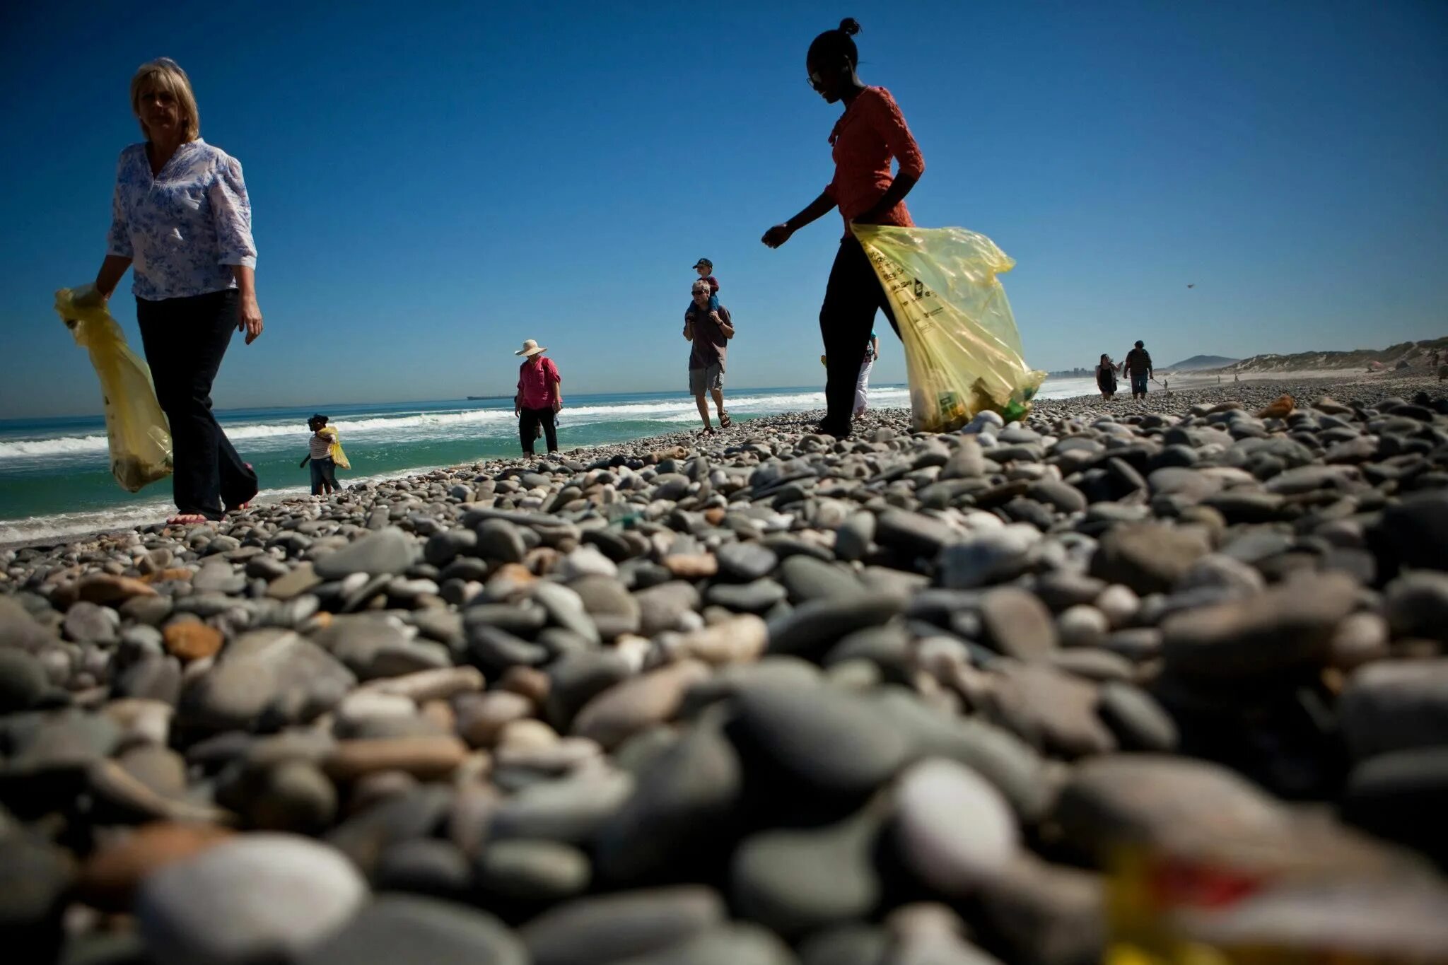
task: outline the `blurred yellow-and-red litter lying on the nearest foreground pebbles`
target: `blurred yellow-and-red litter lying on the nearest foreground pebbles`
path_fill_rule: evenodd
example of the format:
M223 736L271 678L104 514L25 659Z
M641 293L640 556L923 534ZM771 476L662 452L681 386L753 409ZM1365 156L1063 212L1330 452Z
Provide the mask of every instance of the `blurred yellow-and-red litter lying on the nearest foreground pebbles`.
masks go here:
M1445 962L1445 910L1448 887L1426 861L1302 815L1267 838L1122 846L1106 878L1103 962Z

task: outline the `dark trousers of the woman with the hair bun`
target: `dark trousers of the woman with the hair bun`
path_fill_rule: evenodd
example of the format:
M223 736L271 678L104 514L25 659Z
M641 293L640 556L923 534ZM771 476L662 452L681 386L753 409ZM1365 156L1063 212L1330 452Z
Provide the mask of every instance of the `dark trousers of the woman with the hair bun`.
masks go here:
M824 289L824 305L820 308L820 334L824 336L825 354L825 418L824 431L833 435L849 435L854 414L854 386L860 381L860 359L870 344L870 330L875 327L875 311L883 310L895 334L895 324L885 286L880 285L869 255L853 237L840 242L830 269L830 284Z

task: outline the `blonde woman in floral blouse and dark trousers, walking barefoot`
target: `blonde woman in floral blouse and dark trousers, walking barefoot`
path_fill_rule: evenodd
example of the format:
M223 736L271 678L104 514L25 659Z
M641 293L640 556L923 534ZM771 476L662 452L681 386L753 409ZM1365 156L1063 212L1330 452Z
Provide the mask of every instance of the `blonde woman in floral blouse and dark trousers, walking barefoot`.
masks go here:
M211 381L232 340L262 334L256 245L242 165L201 140L191 80L161 58L130 78L130 110L145 140L120 152L106 260L96 289L110 298L132 269L136 321L171 421L172 524L220 519L256 495L211 415Z

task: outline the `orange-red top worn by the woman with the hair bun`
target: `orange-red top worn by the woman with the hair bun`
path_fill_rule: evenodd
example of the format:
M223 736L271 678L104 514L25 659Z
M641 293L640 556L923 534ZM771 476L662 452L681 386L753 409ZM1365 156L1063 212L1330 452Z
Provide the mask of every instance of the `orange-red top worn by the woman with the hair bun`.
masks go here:
M883 87L866 87L859 93L830 132L830 143L834 145L834 181L824 191L840 205L846 229L891 187L895 179L891 175L892 158L899 162L901 174L919 178L925 172L919 145L909 133L899 104ZM914 224L904 201L879 223Z

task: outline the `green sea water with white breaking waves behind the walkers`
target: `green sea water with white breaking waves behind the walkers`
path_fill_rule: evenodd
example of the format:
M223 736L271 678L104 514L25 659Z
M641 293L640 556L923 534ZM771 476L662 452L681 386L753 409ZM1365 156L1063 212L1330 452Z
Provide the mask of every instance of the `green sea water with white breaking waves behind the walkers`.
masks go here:
M1048 381L1043 398L1092 391L1090 379ZM817 388L730 394L736 420L824 408ZM870 405L908 407L902 385L870 388ZM308 492L307 417L320 411L337 427L352 470L337 482L387 479L520 453L511 399L219 409L232 444L261 477L259 501ZM699 425L694 399L668 394L568 396L559 415L559 447L599 446ZM539 450L542 451L542 446ZM127 493L110 475L100 415L0 420L0 544L156 522L172 511L171 483Z

